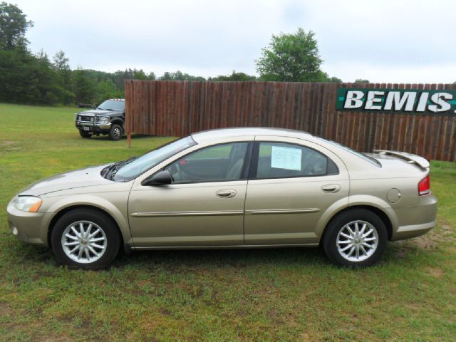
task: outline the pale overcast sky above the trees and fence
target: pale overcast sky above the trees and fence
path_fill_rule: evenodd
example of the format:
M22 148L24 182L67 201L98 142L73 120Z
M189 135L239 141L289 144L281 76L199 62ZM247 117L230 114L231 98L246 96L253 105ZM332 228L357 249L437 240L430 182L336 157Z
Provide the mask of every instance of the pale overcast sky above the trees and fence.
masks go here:
M72 68L255 74L271 35L301 27L343 81L456 81L454 0L6 1L34 22L31 50L62 49Z

